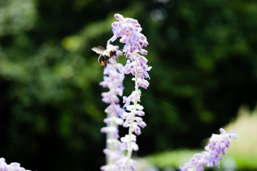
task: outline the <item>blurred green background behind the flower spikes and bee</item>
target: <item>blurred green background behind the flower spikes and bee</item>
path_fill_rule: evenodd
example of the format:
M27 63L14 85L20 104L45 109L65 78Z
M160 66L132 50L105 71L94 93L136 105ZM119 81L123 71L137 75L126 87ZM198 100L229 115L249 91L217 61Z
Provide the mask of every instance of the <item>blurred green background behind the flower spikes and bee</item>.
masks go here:
M137 19L149 42L153 68L141 97L148 126L133 154L142 170L178 169L221 127L242 138L220 170L256 170L254 0L1 0L0 157L38 171L104 165L108 90L90 49L106 46L115 13Z

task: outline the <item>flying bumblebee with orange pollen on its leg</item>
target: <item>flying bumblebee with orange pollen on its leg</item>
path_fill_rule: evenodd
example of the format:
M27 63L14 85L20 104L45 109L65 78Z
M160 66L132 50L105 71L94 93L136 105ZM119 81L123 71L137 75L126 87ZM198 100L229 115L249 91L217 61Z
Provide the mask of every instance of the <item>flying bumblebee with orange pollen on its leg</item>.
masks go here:
M105 49L102 46L97 46L97 47L93 47L91 50L95 51L97 54L99 54L100 56L98 57L98 62L99 64L105 66L105 68L107 68L107 64L108 64L108 60L110 58L113 58L114 60L114 56L118 59L118 55L116 53L117 50L114 49ZM119 59L118 59L119 61ZM104 69L105 69L104 68Z

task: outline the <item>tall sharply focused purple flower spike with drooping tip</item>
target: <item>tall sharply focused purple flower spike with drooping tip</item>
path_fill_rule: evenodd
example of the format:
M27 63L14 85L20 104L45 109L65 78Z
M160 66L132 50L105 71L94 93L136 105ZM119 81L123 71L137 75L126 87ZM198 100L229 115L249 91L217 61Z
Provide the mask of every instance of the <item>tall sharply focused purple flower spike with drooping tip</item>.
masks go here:
M123 47L123 52L127 58L129 58L124 67L120 68L120 73L122 74L132 74L135 77L132 79L135 81L135 91L131 93L128 97L123 96L123 103L128 112L123 112L122 118L125 119L123 127L129 127L128 135L121 138L121 149L127 150L127 156L124 156L116 161L118 168L120 170L135 170L136 162L131 159L132 151L137 151L139 148L136 144L136 135L141 134L141 128L146 126L146 123L142 118L138 116L143 116L145 113L142 111L143 106L137 104L140 102L141 91L139 87L147 88L149 82L144 78L149 78L148 71L152 67L149 67L146 63L148 60L141 56L138 52L143 55L147 54L147 51L142 49L143 46L147 46L148 42L146 37L140 33L142 28L137 20L132 18L124 18L121 14L115 14L114 17L118 22L113 22L113 37L110 39L112 42L118 37L121 37L120 42L125 43ZM133 105L130 105L133 102ZM138 116L135 116L138 115ZM140 128L141 127L141 128Z

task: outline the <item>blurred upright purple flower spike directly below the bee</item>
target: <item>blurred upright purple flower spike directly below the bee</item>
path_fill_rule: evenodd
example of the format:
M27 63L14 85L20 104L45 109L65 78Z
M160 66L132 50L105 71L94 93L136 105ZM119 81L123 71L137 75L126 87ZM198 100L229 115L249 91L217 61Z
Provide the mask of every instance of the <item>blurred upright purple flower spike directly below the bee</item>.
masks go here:
M106 49L118 50L118 48L118 46L110 44L109 41L107 42ZM119 56L122 55L121 51L117 51L116 53ZM104 119L104 122L107 123L108 126L101 129L102 133L108 133L107 144L109 147L103 150L104 154L108 156L108 163L100 169L103 171L118 171L118 166L115 164L115 161L124 156L120 150L121 142L117 140L119 138L117 125L122 125L124 121L118 116L121 116L125 110L118 104L120 100L117 96L122 96L124 89L124 75L119 73L117 69L123 67L123 65L117 63L116 60L113 61L113 59L109 59L107 66L108 67L104 70L104 81L100 82L100 85L109 88L108 92L102 93L102 101L110 104L105 109L109 117Z

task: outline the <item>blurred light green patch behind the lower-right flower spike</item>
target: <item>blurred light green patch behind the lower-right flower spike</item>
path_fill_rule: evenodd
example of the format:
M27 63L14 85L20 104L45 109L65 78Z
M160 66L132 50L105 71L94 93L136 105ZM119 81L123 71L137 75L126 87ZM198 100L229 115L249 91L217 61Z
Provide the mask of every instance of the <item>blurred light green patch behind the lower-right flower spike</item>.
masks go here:
M226 150L227 155L221 156L224 160L219 162L221 170L257 169L256 109L250 112L247 107L241 106L237 118L224 126L226 132L230 132L230 130L233 129L241 138L231 139L231 146ZM183 164L187 163L195 153L200 153L203 150L204 148L199 150L181 149L164 151L146 156L139 160L139 165L142 165L142 168L157 167L160 169L178 169L179 165L183 166ZM218 167L214 166L214 168L217 169Z

